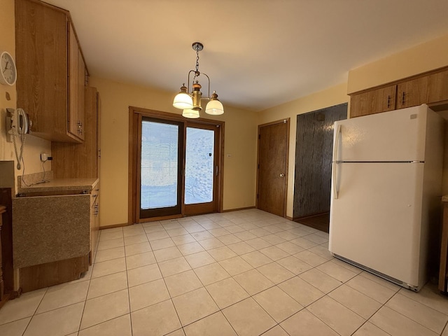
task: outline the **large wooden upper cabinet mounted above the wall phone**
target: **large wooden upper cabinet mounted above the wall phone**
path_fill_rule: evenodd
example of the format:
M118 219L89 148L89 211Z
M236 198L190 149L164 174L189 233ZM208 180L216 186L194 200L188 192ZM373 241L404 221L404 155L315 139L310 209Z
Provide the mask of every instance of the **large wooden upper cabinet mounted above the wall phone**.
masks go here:
M29 113L31 134L82 142L86 69L69 13L16 0L15 45L17 106Z

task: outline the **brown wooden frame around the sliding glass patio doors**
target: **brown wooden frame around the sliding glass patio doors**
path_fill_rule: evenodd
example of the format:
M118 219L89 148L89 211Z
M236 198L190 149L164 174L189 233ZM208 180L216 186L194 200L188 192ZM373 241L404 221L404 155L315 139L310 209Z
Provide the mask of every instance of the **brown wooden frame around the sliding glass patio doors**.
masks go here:
M165 120L172 120L176 122L183 123L184 130L187 124L191 121L197 124L204 125L217 125L221 129L218 144L218 181L216 183L217 197L218 197L218 212L223 211L223 163L224 163L224 125L223 121L211 120L206 118L197 118L190 120L184 118L180 114L168 113L162 111L155 111L150 109L143 109L141 107L129 106L129 163L128 163L128 207L127 207L127 222L129 225L134 223L145 223L148 221L161 221L172 218L185 217L185 204L184 204L184 194L185 194L185 174L182 174L182 205L181 214L172 216L160 216L152 218L139 218L140 212L140 195L137 193L138 183L139 183L139 155L141 154L141 148L139 148L139 139L141 138L141 119L143 117L158 118ZM183 132L183 142L186 146L186 132ZM185 148L184 148L185 149ZM185 172L185 158L183 158L182 169Z

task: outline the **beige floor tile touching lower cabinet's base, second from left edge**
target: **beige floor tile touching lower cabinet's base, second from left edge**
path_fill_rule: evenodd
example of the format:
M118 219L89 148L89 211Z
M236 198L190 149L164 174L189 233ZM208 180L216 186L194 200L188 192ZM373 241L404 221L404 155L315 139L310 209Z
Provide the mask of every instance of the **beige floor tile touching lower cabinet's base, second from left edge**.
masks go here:
M45 293L36 314L65 307L73 303L84 302L88 288L89 281L52 286Z

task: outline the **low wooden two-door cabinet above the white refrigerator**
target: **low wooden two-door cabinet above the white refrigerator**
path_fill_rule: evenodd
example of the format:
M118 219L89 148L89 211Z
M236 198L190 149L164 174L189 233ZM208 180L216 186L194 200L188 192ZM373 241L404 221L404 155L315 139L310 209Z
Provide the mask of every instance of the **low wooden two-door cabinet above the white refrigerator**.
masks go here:
M351 94L350 117L448 101L448 69Z

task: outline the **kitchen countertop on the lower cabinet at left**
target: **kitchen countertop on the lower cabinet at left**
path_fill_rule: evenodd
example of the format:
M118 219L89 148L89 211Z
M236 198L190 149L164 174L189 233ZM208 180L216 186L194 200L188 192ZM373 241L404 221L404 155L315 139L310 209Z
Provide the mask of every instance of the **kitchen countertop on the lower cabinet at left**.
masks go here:
M90 193L98 179L52 179L47 183L38 183L32 186L19 186L19 194L29 193L57 193L57 192L80 192Z

